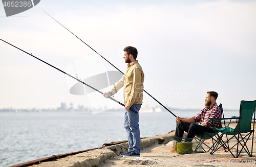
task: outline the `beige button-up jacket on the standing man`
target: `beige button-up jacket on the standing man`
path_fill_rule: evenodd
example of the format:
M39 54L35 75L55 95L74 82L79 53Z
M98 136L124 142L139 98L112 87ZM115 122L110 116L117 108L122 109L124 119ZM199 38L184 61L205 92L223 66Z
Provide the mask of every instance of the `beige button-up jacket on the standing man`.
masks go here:
M110 90L115 94L123 87L124 105L142 104L144 73L138 60L129 63L124 76Z

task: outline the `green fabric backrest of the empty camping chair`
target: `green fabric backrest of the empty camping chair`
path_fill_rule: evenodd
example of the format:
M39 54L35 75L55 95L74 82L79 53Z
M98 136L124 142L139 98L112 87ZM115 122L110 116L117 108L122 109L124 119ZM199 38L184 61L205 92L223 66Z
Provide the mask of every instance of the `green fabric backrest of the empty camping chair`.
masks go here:
M253 113L255 114L256 100L254 101L241 101L239 117L241 117L240 132L249 132L251 130L251 119ZM239 130L239 124L234 128L234 131Z

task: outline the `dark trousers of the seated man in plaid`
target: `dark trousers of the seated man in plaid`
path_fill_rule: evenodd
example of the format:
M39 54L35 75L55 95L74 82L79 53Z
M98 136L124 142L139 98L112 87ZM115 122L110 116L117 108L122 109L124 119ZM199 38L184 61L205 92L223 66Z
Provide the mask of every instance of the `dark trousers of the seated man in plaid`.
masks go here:
M195 135L201 135L205 131L209 133L214 132L209 127L198 125L196 123L190 124L190 123L179 122L176 126L175 136L183 137L184 131L187 132L186 138L194 138ZM187 141L189 141L189 139L187 139Z

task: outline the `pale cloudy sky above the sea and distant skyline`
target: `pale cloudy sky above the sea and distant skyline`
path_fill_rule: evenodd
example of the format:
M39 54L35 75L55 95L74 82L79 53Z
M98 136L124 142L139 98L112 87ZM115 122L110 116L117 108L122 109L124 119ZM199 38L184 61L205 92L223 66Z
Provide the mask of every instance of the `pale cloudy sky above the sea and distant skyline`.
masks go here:
M217 104L238 110L241 100L256 100L255 9L256 1L40 1L6 17L0 5L0 39L66 72L90 56L116 70L47 12L123 73L123 49L135 46L144 90L164 106L202 109L214 90ZM79 62L82 79L101 68ZM0 109L90 107L89 96L70 93L70 79L0 41ZM159 104L144 93L142 106Z

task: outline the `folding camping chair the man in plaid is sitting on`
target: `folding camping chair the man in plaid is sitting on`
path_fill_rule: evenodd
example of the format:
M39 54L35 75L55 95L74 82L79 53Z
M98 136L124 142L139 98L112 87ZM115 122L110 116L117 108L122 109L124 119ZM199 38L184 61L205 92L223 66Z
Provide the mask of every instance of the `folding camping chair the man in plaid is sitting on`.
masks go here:
M220 105L219 105L219 107L221 108L221 114L222 114L222 117L224 118L224 113L223 113L223 107L222 107L222 104L220 103ZM213 120L217 120L216 118L212 118ZM212 124L214 124L214 123L216 123L216 122L220 122L221 120L219 120L219 121L214 121L214 122L212 122ZM224 121L224 126L226 126L226 124L225 124L225 121ZM220 126L219 126L219 128L222 128L222 125L221 125L221 123L220 123ZM206 145L204 142L203 142L203 145L204 146L206 146L209 150L208 151L205 151L205 149L203 148L203 150L204 150L204 152L209 152L210 150L214 150L214 148L215 148L215 146L216 146L216 144L218 143L217 141L217 139L215 139L214 138L214 136L216 136L217 134L216 134L216 132L212 132L212 133L209 133L209 132L203 132L203 134L201 134L201 135L196 135L195 136L195 138L196 138L196 140L198 140L198 141L201 141L201 140L207 140L207 139L210 139L211 138L211 141L212 141L212 146L211 147L209 147L208 145ZM222 137L223 136L223 134L221 134L221 136L220 137ZM227 136L226 136L227 137ZM218 138L218 136L216 137L216 138ZM224 148L224 150L226 151L226 148L223 146L223 148ZM227 151L226 151L227 152Z

